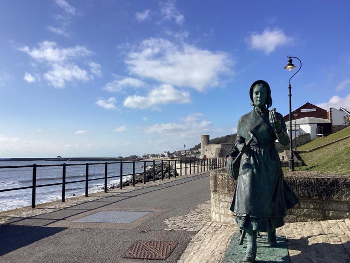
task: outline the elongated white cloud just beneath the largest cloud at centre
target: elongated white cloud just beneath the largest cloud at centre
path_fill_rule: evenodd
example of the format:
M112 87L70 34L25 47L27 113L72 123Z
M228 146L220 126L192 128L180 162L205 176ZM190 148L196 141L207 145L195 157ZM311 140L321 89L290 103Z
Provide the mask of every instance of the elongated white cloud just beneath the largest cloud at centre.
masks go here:
M171 85L164 84L151 90L145 97L138 95L126 97L123 105L128 108L145 109L159 104L189 102L188 92L175 90Z

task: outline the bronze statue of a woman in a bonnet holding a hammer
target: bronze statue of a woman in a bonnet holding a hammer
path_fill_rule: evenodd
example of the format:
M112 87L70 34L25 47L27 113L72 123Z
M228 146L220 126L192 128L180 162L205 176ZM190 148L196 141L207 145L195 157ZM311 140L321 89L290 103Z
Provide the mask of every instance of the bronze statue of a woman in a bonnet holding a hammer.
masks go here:
M276 245L275 229L284 224L287 209L298 202L296 195L283 179L275 140L289 143L281 114L268 108L272 105L267 82L255 81L249 91L251 112L238 121L234 148L242 152L239 175L230 210L239 230L247 235L247 248L242 262L253 262L256 255L256 232L267 232L267 241ZM249 146L244 143L254 135Z

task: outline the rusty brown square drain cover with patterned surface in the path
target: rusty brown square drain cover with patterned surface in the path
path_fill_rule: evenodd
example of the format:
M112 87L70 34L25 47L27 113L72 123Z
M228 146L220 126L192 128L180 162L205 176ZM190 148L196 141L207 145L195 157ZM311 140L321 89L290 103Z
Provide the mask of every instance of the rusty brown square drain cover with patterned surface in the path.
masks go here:
M166 259L176 245L176 242L138 241L129 247L123 257L158 260Z

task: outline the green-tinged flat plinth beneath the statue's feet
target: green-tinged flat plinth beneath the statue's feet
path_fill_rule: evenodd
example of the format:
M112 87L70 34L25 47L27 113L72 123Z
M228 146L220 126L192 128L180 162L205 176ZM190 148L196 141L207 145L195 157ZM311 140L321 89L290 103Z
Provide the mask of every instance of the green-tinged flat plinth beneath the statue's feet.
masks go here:
M284 236L276 236L277 246L270 246L267 243L267 235L257 235L256 263L285 262L290 263L287 244ZM239 263L245 255L246 237L243 244L239 245L239 233L233 234L228 244L225 255L221 263Z

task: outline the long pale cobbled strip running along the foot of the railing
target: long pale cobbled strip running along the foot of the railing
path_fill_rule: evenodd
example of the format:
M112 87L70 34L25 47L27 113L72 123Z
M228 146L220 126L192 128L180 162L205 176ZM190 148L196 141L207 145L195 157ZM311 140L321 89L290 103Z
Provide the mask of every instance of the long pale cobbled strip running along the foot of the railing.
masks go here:
M203 172L204 173L204 172ZM108 189L108 192L105 193L103 191L101 192L96 192L96 193L89 193L88 197L85 197L83 195L79 196L74 196L70 198L65 198L65 202L62 203L60 200L53 201L53 202L47 202L47 203L42 203L42 204L37 204L36 208L31 208L30 206L23 207L23 208L17 208L13 210L8 210L8 211L1 211L0 212L0 224L6 223L8 220L16 217L16 218L26 218L26 217L31 217L31 216L36 216L40 214L46 214L54 211L58 211L67 207L74 206L79 203L87 202L87 201L92 201L96 200L101 197L108 197L108 196L115 196L117 194L133 191L135 189L141 189L141 188L146 188L154 185L159 185L175 180L179 180L181 178L188 178L188 177L193 177L196 175L199 175L202 173L195 173L195 174L187 174L186 176L176 176L175 177L170 177L164 178L163 181L157 180L155 182L147 182L147 184L135 184L135 186L129 185L129 186L123 186L122 189L119 188L114 188L114 189Z

